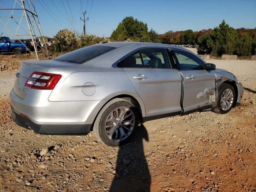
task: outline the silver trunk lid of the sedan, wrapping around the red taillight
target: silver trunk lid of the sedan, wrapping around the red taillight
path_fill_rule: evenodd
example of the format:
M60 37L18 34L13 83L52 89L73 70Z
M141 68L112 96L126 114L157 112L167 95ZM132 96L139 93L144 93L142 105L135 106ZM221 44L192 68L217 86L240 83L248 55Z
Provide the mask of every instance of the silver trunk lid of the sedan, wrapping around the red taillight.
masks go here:
M70 66L72 63L60 62L56 60L42 60L42 61L24 61L20 66L19 72L16 73L16 80L14 83L14 92L17 96L24 99L29 87L24 86L26 80L30 78L33 72L46 72L49 68L58 66Z

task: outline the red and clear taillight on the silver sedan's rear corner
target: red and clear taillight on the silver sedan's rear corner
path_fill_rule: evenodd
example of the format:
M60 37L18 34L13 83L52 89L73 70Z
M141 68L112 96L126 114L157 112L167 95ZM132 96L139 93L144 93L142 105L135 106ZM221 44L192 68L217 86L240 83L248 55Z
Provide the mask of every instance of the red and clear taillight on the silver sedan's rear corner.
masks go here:
M32 89L54 89L61 75L43 72L33 72L25 83L25 86Z

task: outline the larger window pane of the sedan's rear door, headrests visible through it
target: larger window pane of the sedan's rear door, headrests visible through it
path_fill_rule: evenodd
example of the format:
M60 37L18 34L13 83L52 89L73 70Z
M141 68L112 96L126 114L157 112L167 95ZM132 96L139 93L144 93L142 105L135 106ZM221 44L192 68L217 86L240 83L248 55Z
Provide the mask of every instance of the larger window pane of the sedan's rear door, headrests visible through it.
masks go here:
M142 49L140 52L145 68L170 68L165 49Z

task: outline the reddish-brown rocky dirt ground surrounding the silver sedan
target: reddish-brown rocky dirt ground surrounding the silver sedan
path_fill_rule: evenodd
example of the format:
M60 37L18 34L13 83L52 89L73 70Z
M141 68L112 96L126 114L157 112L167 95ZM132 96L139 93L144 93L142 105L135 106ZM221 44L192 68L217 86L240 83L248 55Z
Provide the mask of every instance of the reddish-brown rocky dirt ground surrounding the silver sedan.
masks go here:
M256 61L208 60L244 85L241 106L228 114L146 122L129 144L111 148L92 133L46 136L12 122L21 60L0 55L0 191L256 191Z

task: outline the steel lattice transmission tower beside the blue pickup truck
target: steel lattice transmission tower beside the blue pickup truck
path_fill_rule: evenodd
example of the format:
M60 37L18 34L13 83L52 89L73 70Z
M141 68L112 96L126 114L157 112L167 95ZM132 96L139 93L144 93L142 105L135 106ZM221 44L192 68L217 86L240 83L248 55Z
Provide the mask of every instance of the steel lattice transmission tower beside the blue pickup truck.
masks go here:
M32 40L34 53L28 47L26 48L35 58L39 60L38 46L49 56L33 0L9 0L8 3L10 4L11 1L14 2L12 8L6 8L4 4L0 2L0 22L4 25L0 36L8 29L25 47L26 45L22 42L22 38L20 37L29 37L29 39ZM6 12L7 16L6 14L2 15L2 12ZM15 14L20 15L16 16ZM5 20L5 18L7 18L7 20ZM16 18L18 18L18 20L16 20ZM26 18L26 21L24 21L24 18ZM16 32L14 32L14 29L16 29ZM24 34L21 34L20 30L22 30ZM36 34L38 34L38 36L36 36ZM41 44L36 42L36 38L39 37L42 37L44 48L41 47Z

